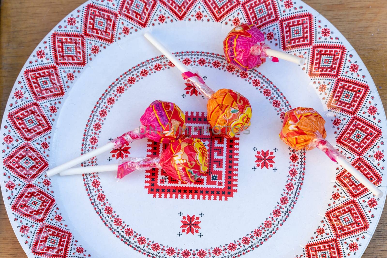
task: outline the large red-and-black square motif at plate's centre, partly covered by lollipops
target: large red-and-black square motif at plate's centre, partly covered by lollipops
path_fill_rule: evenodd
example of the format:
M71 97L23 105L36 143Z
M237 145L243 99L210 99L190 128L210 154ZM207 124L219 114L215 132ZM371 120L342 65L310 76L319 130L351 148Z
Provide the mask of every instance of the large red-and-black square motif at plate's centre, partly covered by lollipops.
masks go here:
M188 133L191 133L191 129L197 130L197 134L192 135L200 138L207 147L209 170L192 185L181 184L160 169L148 170L145 181L148 193L154 198L227 200L233 197L237 191L239 138L226 139L214 135L211 129L207 132L207 115L204 113L186 112L185 119ZM159 157L165 148L166 144L148 140L147 156Z

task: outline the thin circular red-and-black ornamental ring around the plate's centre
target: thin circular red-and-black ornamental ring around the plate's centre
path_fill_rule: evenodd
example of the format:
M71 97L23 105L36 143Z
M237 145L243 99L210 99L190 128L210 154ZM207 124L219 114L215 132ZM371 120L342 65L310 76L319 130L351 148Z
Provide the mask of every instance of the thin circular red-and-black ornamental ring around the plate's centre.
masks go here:
M286 97L283 96L276 85L260 72L250 71L245 73L236 71L231 68L231 66L227 65L224 56L215 53L187 51L184 53L175 53L175 55L180 57L180 59L184 60L186 63L196 63L194 67L207 64L207 67L221 69L224 72L233 73L234 76L239 77L241 80L248 80L248 83L251 84L252 87L260 90L260 92L267 97L269 104L272 104L280 119L283 117L284 110L291 109ZM202 60L202 62L197 62L198 60ZM165 57L156 57L140 63L118 77L115 82L104 91L94 106L94 109L91 111L89 120L86 124L85 134L82 139L81 153L84 154L86 152L83 146L91 145L89 149L97 147L96 141L98 140L96 140L96 137L98 138L102 126L95 128L93 125L95 123L102 124L108 115L107 111L113 107L127 89L134 87L139 80L145 79L145 77L150 76L153 73L169 69L170 67L173 67L173 65L171 65ZM264 91L264 89L269 89L269 91ZM118 92L120 92L120 94L118 94ZM108 98L110 101L106 101ZM132 229L124 222L125 219L122 219L119 214L113 214L115 208L111 207L111 204L108 202L109 198L104 194L103 186L99 181L98 175L85 175L84 186L94 210L96 210L96 213L99 215L99 218L105 226L121 241L139 253L151 255L152 257L165 257L164 253L167 253L168 255L181 255L178 257L183 258L190 257L190 255L195 252L196 255L202 254L202 258L209 258L212 255L218 256L221 254L224 257L241 256L268 241L268 239L270 239L283 225L295 207L305 174L305 151L296 152L295 150L290 150L289 155L289 174L293 174L286 180L284 193L278 201L278 203L281 204L274 207L272 213L267 216L268 219L262 222L261 226L258 226L250 231L250 233L235 241L233 240L223 246L215 246L204 250L194 249L194 251L188 251L188 249L173 248L169 245L156 243L156 246L159 246L159 248L151 248L151 251L150 247L154 245L154 241L142 236L139 232L135 231L135 229ZM97 162L97 160L94 159L92 162ZM84 162L84 165L86 164L87 162ZM294 172L296 172L297 176ZM152 173L152 170L147 171L147 173ZM292 187L287 187L289 185ZM285 190L285 188L287 190ZM205 197L203 199L205 199Z

